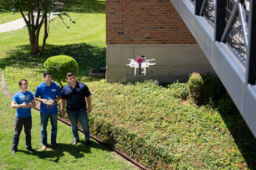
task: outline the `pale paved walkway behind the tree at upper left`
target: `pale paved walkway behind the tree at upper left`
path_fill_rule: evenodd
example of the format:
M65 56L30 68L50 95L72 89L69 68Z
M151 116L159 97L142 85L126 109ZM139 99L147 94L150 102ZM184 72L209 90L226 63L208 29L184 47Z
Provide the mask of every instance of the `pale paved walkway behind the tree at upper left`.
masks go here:
M57 2L56 9L60 9L60 8L63 8L63 3L58 3ZM51 13L49 18L50 19L55 18L56 14L58 14L58 12ZM37 15L37 13L34 13L34 15ZM14 20L14 21L9 22L9 23L0 24L0 33L15 31L17 29L22 29L24 27L26 27L26 23L24 22L23 18L20 18L20 19Z

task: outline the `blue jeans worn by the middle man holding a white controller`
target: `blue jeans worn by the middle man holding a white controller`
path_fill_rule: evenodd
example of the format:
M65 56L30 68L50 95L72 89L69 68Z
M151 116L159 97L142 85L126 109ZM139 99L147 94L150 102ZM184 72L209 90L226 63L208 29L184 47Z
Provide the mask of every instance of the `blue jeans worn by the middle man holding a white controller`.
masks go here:
M58 113L53 114L43 114L40 113L41 119L41 138L42 138L42 145L47 146L47 124L50 118L52 129L51 129L51 145L56 144L57 138L57 117Z

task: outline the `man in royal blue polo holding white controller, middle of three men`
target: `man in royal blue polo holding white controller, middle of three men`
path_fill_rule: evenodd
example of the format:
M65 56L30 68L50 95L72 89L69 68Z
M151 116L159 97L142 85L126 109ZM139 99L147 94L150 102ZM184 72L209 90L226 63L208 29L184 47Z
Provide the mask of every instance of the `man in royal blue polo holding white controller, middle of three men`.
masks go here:
M47 148L47 124L50 118L51 145L55 149L57 138L57 101L61 99L61 91L58 84L52 82L52 74L49 71L44 72L44 82L36 88L35 100L40 102L40 119L41 119L41 138L42 150Z

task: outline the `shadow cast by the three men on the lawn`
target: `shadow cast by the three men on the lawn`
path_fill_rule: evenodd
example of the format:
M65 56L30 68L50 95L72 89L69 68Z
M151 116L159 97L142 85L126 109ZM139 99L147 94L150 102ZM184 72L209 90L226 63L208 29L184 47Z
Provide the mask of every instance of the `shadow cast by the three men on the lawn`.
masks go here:
M31 154L38 156L39 159L46 159L52 162L58 163L60 160L60 157L64 156L64 152L68 152L70 155L72 155L75 159L84 158L84 154L90 154L90 148L97 148L98 150L103 151L110 151L108 148L99 145L98 143L91 141L92 146L87 147L85 145L85 142L81 142L81 144L78 144L76 146L73 146L71 144L66 143L57 143L56 150L44 150L44 151L35 151L34 153L30 153L27 150L18 150L19 152L24 152L25 154Z

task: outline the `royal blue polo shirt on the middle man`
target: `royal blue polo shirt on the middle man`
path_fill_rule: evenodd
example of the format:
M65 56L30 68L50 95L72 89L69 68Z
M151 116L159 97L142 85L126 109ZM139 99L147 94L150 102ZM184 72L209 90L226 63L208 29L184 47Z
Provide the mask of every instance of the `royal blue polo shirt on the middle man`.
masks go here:
M40 97L41 99L47 100L55 100L57 96L62 96L62 94L59 85L56 83L52 82L50 86L47 86L46 82L43 82L36 88L35 97ZM52 114L57 112L57 103L54 105L47 105L42 101L40 102L40 113Z

